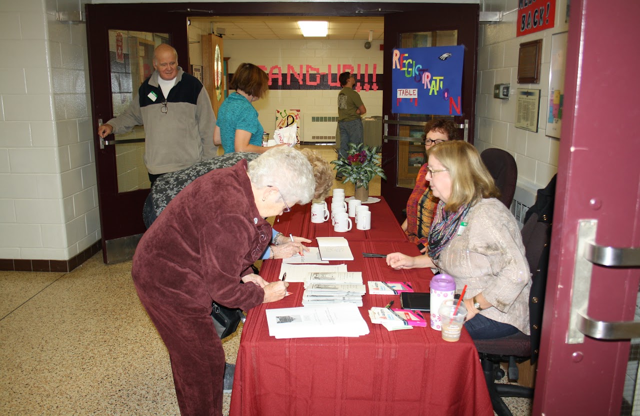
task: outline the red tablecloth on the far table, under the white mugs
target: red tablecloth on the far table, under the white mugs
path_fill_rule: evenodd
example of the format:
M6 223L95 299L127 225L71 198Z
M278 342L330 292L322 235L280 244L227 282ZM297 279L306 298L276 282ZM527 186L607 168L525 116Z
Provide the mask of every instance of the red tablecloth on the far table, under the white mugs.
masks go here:
M408 241L387 201L381 196L376 198L380 198L381 201L366 204L371 212L371 229L365 231L356 229L353 218L353 228L346 233L333 231L331 219L321 224L311 222L311 204L292 206L291 212L281 215L280 221L275 222L273 228L284 235L292 233L309 240L315 240L316 237L344 237L349 241ZM331 201L331 197L326 199L330 212ZM316 246L317 242L314 241L310 245Z

